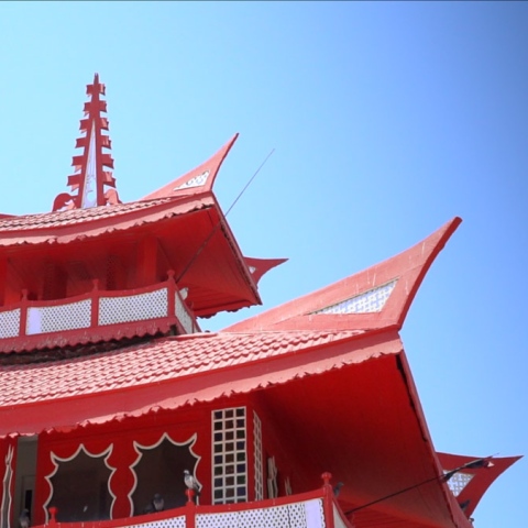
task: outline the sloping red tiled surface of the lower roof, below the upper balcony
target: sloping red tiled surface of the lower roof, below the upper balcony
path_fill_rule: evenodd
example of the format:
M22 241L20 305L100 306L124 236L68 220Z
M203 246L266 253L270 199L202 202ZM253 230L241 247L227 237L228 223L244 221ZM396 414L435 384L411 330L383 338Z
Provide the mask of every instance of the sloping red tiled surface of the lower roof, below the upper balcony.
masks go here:
M204 333L73 360L2 366L0 409L174 381L349 340L361 333Z

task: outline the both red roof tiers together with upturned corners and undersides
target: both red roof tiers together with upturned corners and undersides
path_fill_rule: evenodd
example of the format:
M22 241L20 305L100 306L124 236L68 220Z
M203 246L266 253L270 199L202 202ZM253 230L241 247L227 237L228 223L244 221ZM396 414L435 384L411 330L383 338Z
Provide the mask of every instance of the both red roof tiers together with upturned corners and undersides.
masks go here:
M235 139L138 202L81 209L77 205L84 201L73 198L73 210L3 219L0 249L106 238L113 243L155 228L196 315L260 302L257 279L283 260L243 257L212 194ZM81 175L82 169L72 180L79 189ZM299 439L310 438L299 441L298 455L312 461L312 473L302 475L311 487L318 487L323 471L337 480L346 475L340 499L358 527L469 528L468 512L483 487L473 485L464 498L473 509L464 513L438 479L459 460L433 448L398 333L421 280L460 222L454 218L393 258L221 332L123 341L87 353L77 345L76 358L54 361L29 351L7 356L0 366L0 436L89 428L252 394ZM175 232L177 244L169 235ZM487 481L475 473L472 482L488 484L491 474L515 460L497 463ZM395 490L420 482L430 485L391 498ZM362 507L385 496L375 507Z

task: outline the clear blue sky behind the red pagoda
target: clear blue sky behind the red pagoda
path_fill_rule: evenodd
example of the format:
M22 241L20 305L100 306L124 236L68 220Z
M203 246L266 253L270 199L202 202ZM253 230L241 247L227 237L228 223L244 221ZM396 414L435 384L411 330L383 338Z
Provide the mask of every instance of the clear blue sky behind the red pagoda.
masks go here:
M439 451L528 454L528 3L0 2L0 212L68 190L85 86L107 85L123 201L200 164L264 307L463 223L403 339ZM522 459L476 528L528 527Z

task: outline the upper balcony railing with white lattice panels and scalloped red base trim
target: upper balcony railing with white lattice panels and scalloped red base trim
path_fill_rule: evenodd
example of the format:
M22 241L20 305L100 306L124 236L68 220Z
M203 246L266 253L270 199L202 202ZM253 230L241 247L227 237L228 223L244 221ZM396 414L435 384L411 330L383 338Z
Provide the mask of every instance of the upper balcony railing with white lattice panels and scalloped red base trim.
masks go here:
M74 345L177 328L199 331L196 318L174 280L129 290L101 290L68 299L22 300L0 308L0 352Z

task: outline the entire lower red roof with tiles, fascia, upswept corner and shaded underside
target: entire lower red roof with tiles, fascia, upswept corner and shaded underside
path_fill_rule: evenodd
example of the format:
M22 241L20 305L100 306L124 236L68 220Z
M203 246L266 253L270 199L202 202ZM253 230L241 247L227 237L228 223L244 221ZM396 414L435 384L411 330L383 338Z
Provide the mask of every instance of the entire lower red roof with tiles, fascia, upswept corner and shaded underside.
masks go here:
M310 437L309 447L299 442L299 455L323 451L321 472L346 475L340 501L359 526L376 518L397 528L468 528L453 493L438 479L444 468L398 336L409 299L459 223L454 219L397 257L349 277L345 287L270 310L239 330L2 366L0 435L64 431L254 393L299 439ZM395 280L380 294L380 286ZM294 319L297 328L280 328ZM353 427L343 427L343 417ZM316 487L318 474L302 476ZM433 484L389 497L425 481Z

